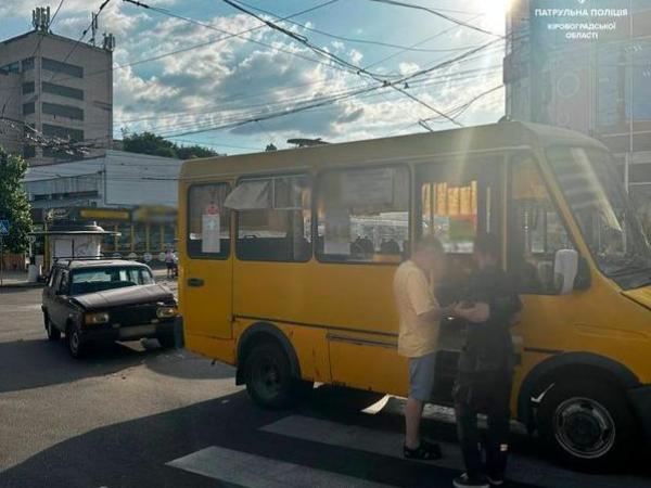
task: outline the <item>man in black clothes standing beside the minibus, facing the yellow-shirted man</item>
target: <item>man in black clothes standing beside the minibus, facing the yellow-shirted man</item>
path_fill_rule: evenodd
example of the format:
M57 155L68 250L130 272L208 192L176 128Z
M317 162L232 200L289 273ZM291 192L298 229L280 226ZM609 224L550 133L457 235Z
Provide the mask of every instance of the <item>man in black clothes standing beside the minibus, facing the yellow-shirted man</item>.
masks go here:
M455 385L457 429L467 468L455 479L457 488L502 485L507 467L514 363L510 328L522 304L511 280L498 266L499 252L495 235L476 237L474 259L478 269L471 275L464 300L452 311L468 324ZM488 418L484 446L477 429L478 412Z

